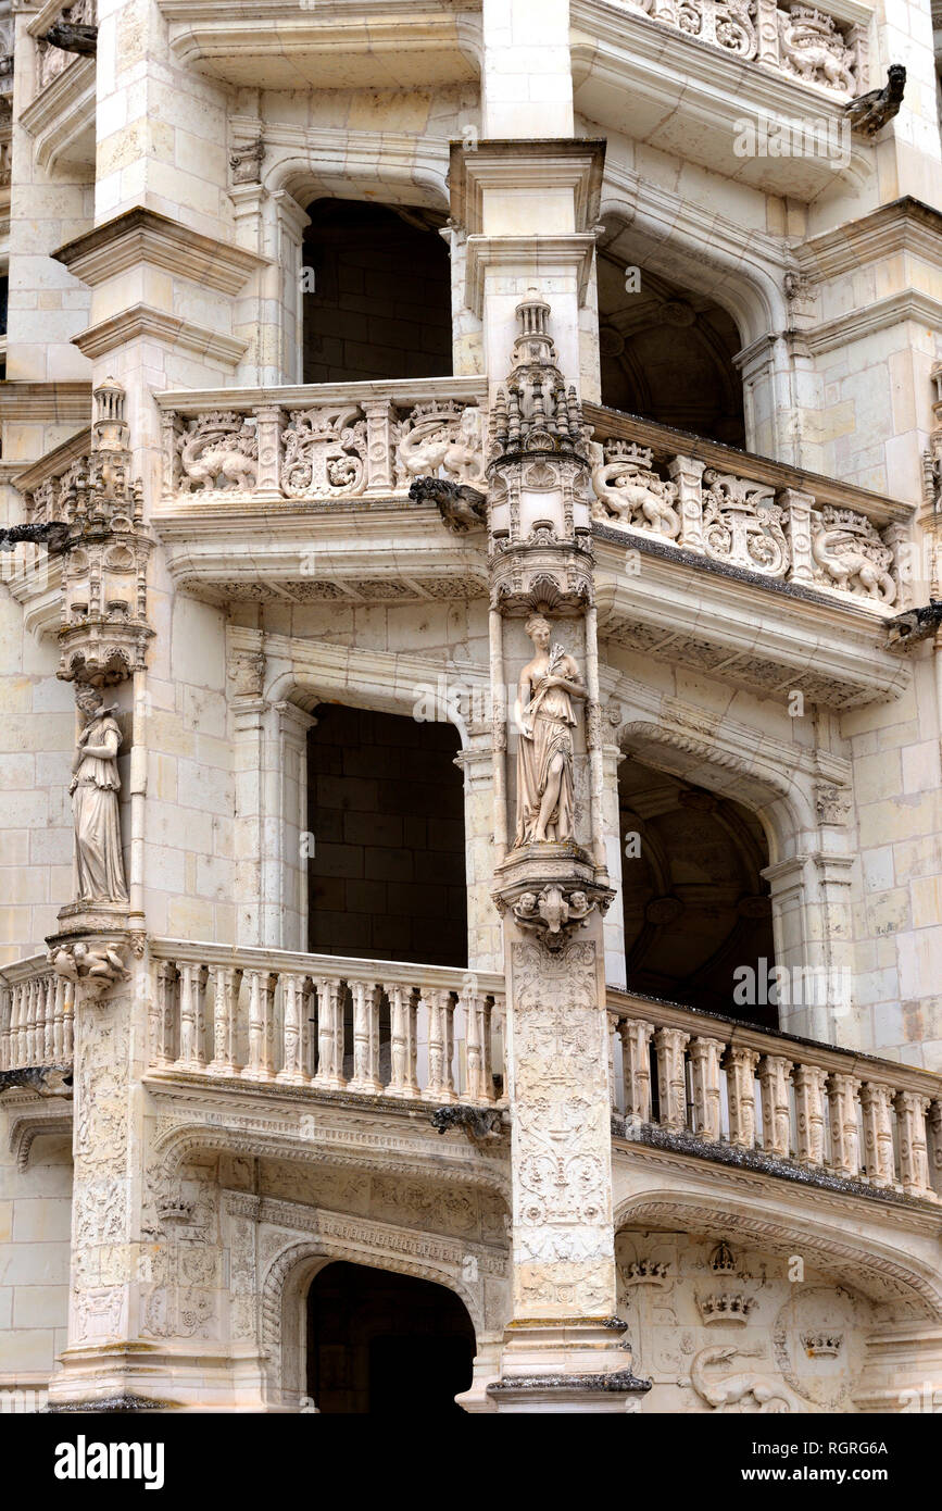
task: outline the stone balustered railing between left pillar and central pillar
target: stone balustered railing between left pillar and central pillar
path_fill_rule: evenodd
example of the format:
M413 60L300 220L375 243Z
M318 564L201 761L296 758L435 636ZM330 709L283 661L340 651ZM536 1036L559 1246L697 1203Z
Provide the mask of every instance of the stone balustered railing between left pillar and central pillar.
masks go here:
M152 940L149 1067L491 1106L503 976Z

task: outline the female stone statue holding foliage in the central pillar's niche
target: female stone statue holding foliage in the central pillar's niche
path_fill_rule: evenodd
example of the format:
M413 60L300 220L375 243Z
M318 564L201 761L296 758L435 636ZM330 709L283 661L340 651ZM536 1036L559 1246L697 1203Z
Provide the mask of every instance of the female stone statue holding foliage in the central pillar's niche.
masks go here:
M536 656L519 678L516 722L521 731L516 757L516 845L572 840L575 783L572 730L574 698L586 698L580 669L562 645L551 645L551 627L542 613L527 620Z

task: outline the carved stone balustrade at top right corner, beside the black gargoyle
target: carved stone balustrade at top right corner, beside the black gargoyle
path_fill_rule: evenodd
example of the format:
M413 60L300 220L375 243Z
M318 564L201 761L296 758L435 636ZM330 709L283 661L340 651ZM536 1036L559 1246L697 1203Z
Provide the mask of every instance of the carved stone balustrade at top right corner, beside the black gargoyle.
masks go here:
M836 94L867 89L867 27L776 0L625 0L652 21Z

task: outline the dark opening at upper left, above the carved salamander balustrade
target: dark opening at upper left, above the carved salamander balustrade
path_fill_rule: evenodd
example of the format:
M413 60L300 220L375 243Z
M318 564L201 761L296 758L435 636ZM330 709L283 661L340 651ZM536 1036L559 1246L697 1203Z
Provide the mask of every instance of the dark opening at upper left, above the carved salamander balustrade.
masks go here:
M451 372L444 216L412 205L316 199L303 234L303 381Z

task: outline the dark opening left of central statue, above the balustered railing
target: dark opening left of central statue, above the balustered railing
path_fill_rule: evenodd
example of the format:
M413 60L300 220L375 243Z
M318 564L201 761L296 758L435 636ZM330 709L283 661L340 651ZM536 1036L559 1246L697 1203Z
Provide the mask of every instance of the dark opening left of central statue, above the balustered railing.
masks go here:
M453 724L320 704L308 736L308 949L468 964Z

